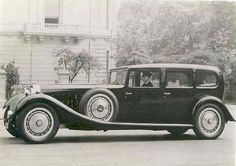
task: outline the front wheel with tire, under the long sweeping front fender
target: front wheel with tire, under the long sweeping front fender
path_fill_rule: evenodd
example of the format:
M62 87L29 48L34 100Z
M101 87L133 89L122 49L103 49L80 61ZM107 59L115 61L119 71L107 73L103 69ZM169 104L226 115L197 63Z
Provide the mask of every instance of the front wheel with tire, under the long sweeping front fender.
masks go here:
M26 106L16 117L17 132L27 143L49 142L59 129L59 119L53 108L44 103Z

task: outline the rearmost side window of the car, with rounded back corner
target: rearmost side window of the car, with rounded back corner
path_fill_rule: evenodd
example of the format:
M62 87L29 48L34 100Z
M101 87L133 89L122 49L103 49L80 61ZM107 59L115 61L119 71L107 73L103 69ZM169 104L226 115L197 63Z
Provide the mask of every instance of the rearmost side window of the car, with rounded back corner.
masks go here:
M197 70L196 71L196 87L215 87L217 78L214 72Z

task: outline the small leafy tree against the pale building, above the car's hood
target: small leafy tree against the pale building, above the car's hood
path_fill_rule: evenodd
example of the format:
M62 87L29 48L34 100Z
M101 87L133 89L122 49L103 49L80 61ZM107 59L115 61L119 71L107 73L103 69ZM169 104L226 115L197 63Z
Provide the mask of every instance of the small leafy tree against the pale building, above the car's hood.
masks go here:
M79 71L83 70L87 74L90 70L98 67L96 59L90 56L85 50L73 52L68 48L60 48L54 51L54 56L58 58L55 70L69 71L69 82L72 83Z

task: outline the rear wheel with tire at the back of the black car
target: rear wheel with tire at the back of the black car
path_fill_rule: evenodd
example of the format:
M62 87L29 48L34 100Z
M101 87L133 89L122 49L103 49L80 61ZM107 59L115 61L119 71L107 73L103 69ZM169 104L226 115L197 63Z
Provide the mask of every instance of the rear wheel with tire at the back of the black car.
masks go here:
M200 139L216 139L225 127L225 116L215 104L204 104L194 114L194 132Z

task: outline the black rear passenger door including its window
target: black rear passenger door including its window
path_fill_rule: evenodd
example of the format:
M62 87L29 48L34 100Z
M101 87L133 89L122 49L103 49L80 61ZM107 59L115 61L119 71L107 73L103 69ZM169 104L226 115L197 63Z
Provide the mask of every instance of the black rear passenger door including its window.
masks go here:
M166 123L185 123L193 101L193 70L165 69L163 120Z

